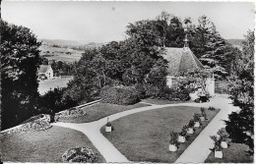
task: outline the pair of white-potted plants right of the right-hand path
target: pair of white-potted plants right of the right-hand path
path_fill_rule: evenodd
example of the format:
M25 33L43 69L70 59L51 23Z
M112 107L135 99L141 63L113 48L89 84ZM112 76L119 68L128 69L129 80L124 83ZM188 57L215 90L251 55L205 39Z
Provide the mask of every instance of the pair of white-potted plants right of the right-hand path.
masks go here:
M229 135L226 133L225 129L222 128L218 131L216 136L210 136L214 140L214 152L216 158L223 158L224 148L228 147L228 143L230 142Z

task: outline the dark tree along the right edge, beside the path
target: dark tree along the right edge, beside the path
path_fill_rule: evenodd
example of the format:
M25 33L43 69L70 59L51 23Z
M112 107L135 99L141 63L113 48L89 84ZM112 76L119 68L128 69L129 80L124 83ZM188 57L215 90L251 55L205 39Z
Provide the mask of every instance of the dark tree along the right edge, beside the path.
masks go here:
M248 31L242 43L242 54L236 59L236 68L230 77L230 98L240 107L239 113L232 112L225 121L225 130L236 143L249 145L254 153L254 32Z

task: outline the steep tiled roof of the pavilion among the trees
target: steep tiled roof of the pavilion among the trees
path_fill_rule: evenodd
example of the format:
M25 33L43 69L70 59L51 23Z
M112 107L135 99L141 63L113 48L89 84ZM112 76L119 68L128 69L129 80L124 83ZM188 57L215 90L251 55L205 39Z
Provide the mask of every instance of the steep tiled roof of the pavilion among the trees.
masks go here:
M163 58L168 61L168 75L177 76L189 70L204 69L202 63L197 59L193 52L188 48L165 48Z

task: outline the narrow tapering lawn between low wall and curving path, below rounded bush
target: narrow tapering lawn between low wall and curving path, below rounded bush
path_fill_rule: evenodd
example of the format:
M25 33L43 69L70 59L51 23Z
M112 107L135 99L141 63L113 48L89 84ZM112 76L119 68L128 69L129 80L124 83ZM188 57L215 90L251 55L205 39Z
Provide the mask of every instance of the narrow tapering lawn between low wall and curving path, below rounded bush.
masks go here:
M85 107L84 110L87 111L87 115L78 117L78 118L71 118L71 119L59 119L60 122L69 122L69 123L89 123L106 116L119 113L122 111L149 106L143 103L137 103L134 105L115 105L115 104L108 104L108 103L97 103L92 106Z

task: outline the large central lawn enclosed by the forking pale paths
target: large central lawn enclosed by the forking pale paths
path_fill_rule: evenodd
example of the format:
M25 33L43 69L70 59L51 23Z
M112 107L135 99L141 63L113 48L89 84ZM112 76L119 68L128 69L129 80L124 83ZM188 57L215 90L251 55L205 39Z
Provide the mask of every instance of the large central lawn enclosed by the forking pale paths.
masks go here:
M189 140L181 143L176 152L168 150L170 132L179 133L200 108L178 106L136 113L111 122L113 132L105 133L104 127L100 132L130 161L172 163L219 111L207 110L209 120L203 122Z

